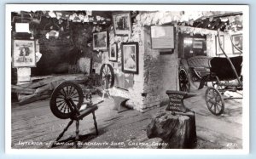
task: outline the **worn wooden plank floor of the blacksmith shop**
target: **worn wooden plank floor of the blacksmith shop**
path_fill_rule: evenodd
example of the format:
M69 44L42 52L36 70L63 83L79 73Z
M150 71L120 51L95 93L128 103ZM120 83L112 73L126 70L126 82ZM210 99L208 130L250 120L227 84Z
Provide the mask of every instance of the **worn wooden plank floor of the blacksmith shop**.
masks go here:
M224 114L214 116L208 111L204 93L184 101L185 105L195 111L197 149L241 149L242 148L242 106L241 99L225 101ZM99 97L95 96L94 100ZM151 116L165 106L155 107L145 113L138 111L116 111L113 99L105 99L98 105L96 121L99 135L95 135L92 115L86 116L80 122L81 143L83 148L147 148L141 145L131 145L131 141L146 141L146 128ZM48 149L49 144L56 139L66 127L69 120L56 118L49 109L49 99L27 105L12 105L11 111L11 145L15 149ZM73 138L75 124L67 130L63 139ZM75 148L73 142L61 144L56 148Z

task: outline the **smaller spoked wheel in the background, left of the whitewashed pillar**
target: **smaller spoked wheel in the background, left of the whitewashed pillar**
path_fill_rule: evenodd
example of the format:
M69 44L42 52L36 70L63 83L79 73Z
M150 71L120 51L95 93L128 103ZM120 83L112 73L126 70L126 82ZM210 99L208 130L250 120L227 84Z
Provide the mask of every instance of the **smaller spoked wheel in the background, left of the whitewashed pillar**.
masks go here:
M113 67L109 64L103 64L100 71L102 88L108 89L113 88L114 75Z

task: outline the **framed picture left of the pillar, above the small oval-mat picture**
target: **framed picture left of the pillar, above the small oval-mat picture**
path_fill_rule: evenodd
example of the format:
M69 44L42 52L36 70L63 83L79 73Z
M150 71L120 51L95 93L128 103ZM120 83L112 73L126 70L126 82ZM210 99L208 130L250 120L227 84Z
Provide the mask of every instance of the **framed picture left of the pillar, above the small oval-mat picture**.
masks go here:
M93 50L107 50L108 49L108 31L93 33L92 38Z

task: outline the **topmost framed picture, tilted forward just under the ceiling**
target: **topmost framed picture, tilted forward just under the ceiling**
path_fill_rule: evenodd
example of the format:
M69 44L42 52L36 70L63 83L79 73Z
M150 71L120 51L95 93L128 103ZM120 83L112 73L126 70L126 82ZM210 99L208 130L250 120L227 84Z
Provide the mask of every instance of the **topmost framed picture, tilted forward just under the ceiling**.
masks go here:
M131 13L114 13L113 31L115 35L128 36L131 34Z

